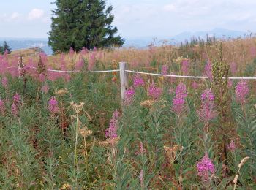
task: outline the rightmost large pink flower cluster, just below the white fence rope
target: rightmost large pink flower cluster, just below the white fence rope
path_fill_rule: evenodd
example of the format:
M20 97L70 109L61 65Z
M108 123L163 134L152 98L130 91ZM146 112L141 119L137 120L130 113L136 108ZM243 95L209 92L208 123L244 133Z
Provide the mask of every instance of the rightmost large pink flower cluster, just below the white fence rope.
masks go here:
M249 94L249 87L246 80L240 80L236 86L236 101L238 103L246 103L246 96Z

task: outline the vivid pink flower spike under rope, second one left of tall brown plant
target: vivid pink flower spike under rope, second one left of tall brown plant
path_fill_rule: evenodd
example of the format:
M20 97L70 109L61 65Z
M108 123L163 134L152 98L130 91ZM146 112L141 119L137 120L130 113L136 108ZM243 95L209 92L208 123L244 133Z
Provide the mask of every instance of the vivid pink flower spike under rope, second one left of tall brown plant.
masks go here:
M173 111L181 115L184 110L185 98L187 97L187 88L183 83L176 87L176 96L173 98Z

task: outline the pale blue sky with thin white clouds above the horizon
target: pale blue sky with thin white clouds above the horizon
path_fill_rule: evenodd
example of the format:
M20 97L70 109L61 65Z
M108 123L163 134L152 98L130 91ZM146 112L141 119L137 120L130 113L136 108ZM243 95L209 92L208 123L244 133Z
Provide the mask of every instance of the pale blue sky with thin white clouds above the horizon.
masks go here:
M8 0L0 7L0 37L46 38L54 0ZM256 31L256 0L107 0L122 37L170 37L226 28Z

